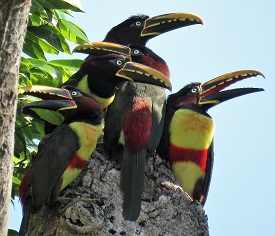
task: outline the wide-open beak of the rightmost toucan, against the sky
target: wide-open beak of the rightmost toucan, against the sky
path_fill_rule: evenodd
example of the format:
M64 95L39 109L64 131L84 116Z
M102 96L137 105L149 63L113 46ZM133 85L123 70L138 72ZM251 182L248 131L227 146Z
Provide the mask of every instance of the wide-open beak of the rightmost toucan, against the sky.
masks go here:
M244 79L255 77L257 75L264 77L264 75L259 71L241 70L221 75L215 79L209 80L208 82L200 85L201 92L198 103L199 105L207 106L208 108L210 108L235 97L239 97L249 93L264 91L264 89L262 88L237 88L221 91L231 84L234 84Z

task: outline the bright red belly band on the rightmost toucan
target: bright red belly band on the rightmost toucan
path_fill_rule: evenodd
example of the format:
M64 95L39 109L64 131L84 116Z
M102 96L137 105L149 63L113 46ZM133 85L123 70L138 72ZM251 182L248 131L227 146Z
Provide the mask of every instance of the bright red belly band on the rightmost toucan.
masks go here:
M206 169L208 149L196 150L192 148L178 147L170 144L169 148L169 161L171 165L177 162L191 161L198 165L202 171Z

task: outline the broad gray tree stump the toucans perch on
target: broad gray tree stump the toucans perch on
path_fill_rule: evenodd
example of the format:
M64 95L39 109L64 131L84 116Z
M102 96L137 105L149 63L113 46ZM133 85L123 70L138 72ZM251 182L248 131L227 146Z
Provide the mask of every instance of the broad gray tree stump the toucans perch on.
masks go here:
M28 236L209 235L202 206L173 182L169 164L150 157L140 216L136 222L125 221L120 164L109 160L99 145L87 168L58 201L30 216Z

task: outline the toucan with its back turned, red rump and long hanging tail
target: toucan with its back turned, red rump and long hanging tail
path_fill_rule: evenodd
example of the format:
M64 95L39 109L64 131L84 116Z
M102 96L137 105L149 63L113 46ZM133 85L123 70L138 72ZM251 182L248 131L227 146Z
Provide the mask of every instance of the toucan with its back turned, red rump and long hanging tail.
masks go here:
M96 55L98 48L95 44L80 45L74 51ZM167 64L152 50L140 44L131 44L129 48L130 51L124 51L124 54L128 53L132 61L150 66L170 77ZM165 92L161 87L124 83L108 107L103 143L111 156L117 152L120 144L123 145L121 186L124 193L123 216L126 220L135 221L140 213L146 157L154 154L159 144L164 127L165 100Z

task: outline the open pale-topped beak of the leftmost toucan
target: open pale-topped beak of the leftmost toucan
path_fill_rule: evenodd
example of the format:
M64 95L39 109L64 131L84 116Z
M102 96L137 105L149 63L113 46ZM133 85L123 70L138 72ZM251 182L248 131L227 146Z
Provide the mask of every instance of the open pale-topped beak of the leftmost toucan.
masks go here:
M76 108L76 104L67 89L42 85L33 85L19 88L18 94L31 95L43 99L23 106L23 113L35 116L30 109L40 108L52 111L61 111Z

